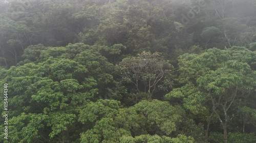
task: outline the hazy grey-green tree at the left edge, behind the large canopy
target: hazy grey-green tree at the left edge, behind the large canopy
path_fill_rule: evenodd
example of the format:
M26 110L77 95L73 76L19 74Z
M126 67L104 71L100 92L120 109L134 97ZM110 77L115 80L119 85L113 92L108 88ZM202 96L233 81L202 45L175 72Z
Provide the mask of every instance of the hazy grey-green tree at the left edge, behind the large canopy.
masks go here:
M31 44L31 30L24 24L20 24L8 17L0 16L0 66L9 68L20 60L20 52ZM3 60L3 61L2 61Z

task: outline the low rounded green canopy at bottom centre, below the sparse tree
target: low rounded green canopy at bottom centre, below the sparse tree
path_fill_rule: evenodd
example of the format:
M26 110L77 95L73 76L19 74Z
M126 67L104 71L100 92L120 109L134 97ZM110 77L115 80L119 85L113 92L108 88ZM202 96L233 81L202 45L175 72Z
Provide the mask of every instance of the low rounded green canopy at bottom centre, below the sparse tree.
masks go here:
M122 108L119 101L100 99L80 110L78 120L88 128L81 134L82 142L194 141L186 134L170 137L184 116L180 106L159 100L144 100L135 106Z

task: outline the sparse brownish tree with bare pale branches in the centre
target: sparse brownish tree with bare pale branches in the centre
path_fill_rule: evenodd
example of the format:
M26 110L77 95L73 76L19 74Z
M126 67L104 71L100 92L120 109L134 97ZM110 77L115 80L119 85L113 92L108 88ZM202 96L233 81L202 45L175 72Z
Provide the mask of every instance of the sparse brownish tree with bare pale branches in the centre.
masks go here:
M124 81L135 84L140 92L140 82L147 92L147 99L151 100L157 84L168 72L172 65L161 59L160 53L142 52L136 57L125 58L116 65L116 71Z

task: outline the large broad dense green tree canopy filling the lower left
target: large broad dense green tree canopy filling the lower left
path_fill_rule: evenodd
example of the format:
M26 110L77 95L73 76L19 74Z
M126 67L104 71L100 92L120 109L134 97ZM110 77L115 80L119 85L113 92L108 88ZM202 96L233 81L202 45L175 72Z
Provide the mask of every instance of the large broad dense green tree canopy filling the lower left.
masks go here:
M78 140L77 130L83 129L77 121L79 111L89 100L99 99L96 95L104 93L99 93L98 84L100 90L109 87L106 84L113 77L104 71L111 64L91 46L81 43L66 47L30 46L24 58L19 66L0 72L1 84L8 83L8 90L12 91L8 96L12 110L8 116L10 140Z

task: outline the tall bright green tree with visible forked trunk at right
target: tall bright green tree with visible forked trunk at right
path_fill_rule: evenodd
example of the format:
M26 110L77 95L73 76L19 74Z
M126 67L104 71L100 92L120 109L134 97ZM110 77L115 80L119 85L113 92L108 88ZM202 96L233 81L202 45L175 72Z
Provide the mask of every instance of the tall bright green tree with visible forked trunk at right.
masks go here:
M255 95L255 52L244 47L209 49L179 58L179 81L184 84L166 95L183 98L184 107L197 114L207 108L220 121L224 142L227 143L227 125L230 108L235 102Z

